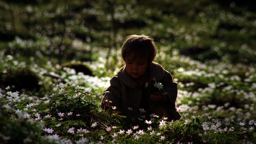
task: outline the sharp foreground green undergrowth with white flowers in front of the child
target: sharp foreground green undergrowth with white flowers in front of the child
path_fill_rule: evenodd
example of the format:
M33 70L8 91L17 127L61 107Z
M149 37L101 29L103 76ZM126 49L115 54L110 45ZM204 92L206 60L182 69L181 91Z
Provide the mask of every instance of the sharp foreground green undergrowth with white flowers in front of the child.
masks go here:
M214 117L167 121L127 118L113 109L101 110L79 87L38 98L1 90L0 139L3 143L255 143L255 130ZM185 114L186 115L186 114ZM15 133L15 134L14 134ZM47 141L46 141L47 140Z

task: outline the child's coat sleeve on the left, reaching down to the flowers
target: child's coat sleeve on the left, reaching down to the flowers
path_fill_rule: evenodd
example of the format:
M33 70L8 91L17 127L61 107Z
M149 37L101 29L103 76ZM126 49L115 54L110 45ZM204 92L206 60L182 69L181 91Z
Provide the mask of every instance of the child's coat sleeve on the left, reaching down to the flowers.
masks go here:
M116 106L117 108L119 107L121 101L121 83L117 76L112 77L110 80L110 86L102 92L102 95L102 109L105 109L105 106Z

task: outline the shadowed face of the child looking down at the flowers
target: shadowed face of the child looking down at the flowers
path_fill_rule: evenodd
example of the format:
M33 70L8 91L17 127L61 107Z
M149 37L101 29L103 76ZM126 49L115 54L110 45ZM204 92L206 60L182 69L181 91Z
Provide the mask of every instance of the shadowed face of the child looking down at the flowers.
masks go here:
M133 54L130 54L125 58L126 71L133 78L139 78L144 75L147 70L148 62L145 58L133 58Z

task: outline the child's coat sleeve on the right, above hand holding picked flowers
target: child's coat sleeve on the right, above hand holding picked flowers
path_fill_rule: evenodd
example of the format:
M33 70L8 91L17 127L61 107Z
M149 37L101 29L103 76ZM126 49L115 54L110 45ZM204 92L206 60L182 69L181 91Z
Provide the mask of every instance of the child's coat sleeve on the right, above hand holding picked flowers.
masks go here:
M173 77L170 72L164 70L164 77L162 78L163 88L167 92L172 107L175 107L175 101L178 94L177 82L173 82Z

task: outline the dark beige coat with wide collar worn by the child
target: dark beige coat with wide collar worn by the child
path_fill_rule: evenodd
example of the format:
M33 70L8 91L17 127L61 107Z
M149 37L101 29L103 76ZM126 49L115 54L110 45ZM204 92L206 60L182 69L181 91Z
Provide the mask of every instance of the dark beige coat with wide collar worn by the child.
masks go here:
M180 119L180 114L175 109L175 101L177 98L177 83L173 82L172 75L162 66L153 62L148 67L150 78L156 79L163 84L163 88L167 92L170 102L162 102L162 106L171 115L171 119ZM104 109L106 100L111 101L111 106L116 106L117 110L124 115L134 116L139 113L140 102L142 99L142 87L128 75L125 65L110 80L110 86L103 91L101 108ZM128 107L133 110L129 111Z

